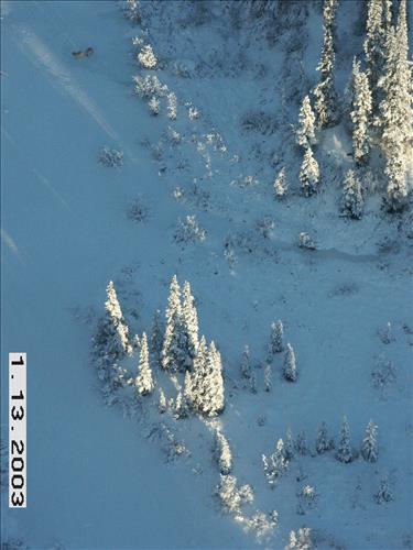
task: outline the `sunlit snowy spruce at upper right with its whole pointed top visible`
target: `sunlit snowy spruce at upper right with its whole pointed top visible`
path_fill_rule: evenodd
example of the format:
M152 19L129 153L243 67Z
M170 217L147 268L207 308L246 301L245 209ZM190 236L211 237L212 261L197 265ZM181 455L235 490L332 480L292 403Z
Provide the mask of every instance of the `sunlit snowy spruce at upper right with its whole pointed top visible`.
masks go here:
M352 62L352 98L350 118L352 122L352 156L360 166L368 160L370 151L369 125L372 99L369 79L360 69L360 62Z

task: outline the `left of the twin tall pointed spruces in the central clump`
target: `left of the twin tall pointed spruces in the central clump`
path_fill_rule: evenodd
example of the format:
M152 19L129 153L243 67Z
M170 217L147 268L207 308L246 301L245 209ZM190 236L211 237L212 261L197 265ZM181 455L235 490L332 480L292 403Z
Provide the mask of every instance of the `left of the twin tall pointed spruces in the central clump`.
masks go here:
M181 289L173 276L166 307L166 329L162 348L162 367L176 372L187 363L186 339L183 331Z

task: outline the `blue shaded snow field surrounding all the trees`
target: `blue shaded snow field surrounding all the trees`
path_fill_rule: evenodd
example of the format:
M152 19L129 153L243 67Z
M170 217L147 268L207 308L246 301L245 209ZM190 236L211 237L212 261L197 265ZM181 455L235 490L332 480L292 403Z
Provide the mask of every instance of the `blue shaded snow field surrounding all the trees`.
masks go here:
M269 29L237 23L226 2L143 2L133 25L115 1L2 1L4 438L9 351L25 351L29 365L28 508L9 510L2 487L4 548L283 549L301 527L316 548L412 548L412 218L383 211L380 193L361 220L340 216L351 151L344 121L320 136L320 193L300 194L291 125L317 81L322 41L319 4L301 3ZM340 2L340 92L362 48L361 18L361 2ZM133 37L152 45L155 69L139 66ZM88 46L90 57L72 56ZM166 98L153 116L134 94L132 77L145 74L175 94L176 120ZM122 166L99 163L105 146L123 152ZM290 189L278 201L282 166ZM135 201L141 221L130 216ZM203 240L175 238L187 216ZM304 231L316 250L297 246ZM90 364L108 282L130 331L142 333L156 309L163 315L174 274L191 283L200 333L222 356L226 408L216 419L161 418L155 396L128 394L108 407ZM264 392L278 319L298 381L282 378L276 355ZM246 344L257 393L240 377ZM377 387L379 371L387 382ZM378 425L377 462L308 452L268 485L262 454L289 427L312 447L323 420L337 441L345 415L356 449L369 420ZM161 422L185 446L181 457L165 450ZM233 475L253 488L244 513L279 513L265 536L220 509L217 426ZM384 476L394 498L378 504ZM298 496L305 485L317 495L311 505Z

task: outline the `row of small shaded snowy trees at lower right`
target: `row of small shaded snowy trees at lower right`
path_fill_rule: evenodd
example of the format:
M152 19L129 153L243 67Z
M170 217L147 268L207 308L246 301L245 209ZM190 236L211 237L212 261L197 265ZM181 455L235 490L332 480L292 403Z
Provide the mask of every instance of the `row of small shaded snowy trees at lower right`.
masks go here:
M379 457L378 427L370 420L366 427L366 432L360 446L360 454L366 462L376 462ZM336 448L337 447L337 448ZM304 430L297 433L294 441L291 429L286 430L285 441L279 439L275 450L270 455L262 455L263 470L267 481L274 487L282 475L289 470L289 463L296 455L324 454L336 449L336 459L344 463L349 463L358 455L358 451L351 447L350 428L347 418L344 417L339 440L336 446L329 437L327 425L323 421L318 428L317 436L312 449L309 449Z

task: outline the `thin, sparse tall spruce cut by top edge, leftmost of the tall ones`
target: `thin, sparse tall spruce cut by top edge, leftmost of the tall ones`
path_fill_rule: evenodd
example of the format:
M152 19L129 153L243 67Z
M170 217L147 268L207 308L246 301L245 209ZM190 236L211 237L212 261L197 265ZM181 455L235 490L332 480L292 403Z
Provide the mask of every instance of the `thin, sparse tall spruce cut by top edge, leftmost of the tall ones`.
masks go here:
M314 109L317 117L317 128L326 128L335 120L337 95L334 88L334 33L335 12L338 0L324 0L323 9L323 50L317 70L319 82L314 89L316 98Z

